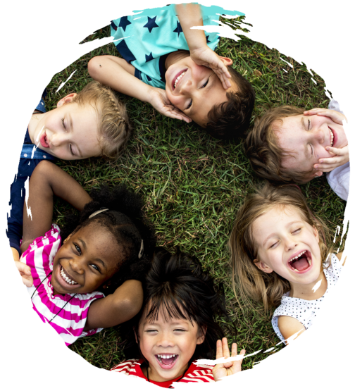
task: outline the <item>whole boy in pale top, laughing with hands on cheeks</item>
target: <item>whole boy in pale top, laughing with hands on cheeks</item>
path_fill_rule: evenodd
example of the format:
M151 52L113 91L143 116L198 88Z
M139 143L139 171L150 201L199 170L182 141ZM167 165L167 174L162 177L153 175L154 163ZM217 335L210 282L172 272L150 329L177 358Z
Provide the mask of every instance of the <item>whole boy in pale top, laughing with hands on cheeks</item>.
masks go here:
M355 201L351 116L326 108L271 108L245 141L251 167L275 183L306 183L326 172L332 190L345 201Z

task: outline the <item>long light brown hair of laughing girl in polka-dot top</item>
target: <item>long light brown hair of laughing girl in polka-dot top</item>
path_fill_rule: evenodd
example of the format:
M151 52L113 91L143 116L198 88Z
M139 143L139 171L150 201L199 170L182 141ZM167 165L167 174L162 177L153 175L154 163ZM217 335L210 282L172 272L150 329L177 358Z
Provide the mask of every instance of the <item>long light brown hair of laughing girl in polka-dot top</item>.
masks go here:
M249 299L263 302L265 311L272 306L278 306L282 294L290 290L289 282L275 273L264 273L254 263L257 249L252 235L252 225L256 218L275 206L294 206L301 218L316 227L319 235L320 256L323 261L333 252L332 235L325 223L316 218L307 206L306 199L297 185L282 185L273 187L266 183L261 189L247 197L237 212L228 248L232 266L232 288L237 297L237 291L243 302L252 305ZM328 245L326 244L328 243ZM324 266L322 266L323 268ZM323 270L323 269L322 269Z

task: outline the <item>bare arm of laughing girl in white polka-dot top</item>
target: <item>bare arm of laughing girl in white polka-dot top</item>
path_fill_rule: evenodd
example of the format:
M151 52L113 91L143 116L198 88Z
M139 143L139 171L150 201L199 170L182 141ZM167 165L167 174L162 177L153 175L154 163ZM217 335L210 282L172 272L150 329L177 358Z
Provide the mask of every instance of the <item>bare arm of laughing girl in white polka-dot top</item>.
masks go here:
M291 316L279 316L278 327L287 346L309 346L304 325Z

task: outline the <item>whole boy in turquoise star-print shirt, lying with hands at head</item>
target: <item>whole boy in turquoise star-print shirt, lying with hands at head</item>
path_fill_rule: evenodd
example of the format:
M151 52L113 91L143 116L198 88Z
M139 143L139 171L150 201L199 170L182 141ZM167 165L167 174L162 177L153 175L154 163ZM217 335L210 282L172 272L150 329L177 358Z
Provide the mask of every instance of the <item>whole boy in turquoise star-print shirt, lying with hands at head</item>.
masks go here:
M191 3L177 4L176 13L178 18L164 10L111 20L111 37L123 58L96 56L89 75L165 116L194 120L213 137L235 139L249 126L254 89L232 68L232 59L214 53L217 16L202 19L199 4Z

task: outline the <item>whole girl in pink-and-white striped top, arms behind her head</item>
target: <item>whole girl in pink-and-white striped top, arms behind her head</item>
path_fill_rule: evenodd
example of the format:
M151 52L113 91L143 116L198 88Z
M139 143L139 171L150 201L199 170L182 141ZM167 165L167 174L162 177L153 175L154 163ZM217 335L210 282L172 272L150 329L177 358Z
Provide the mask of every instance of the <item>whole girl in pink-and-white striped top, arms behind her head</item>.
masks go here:
M156 242L142 199L123 185L90 197L49 161L38 164L28 188L23 255L14 263L35 316L66 345L135 316ZM52 225L54 194L81 211L62 231Z

